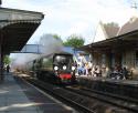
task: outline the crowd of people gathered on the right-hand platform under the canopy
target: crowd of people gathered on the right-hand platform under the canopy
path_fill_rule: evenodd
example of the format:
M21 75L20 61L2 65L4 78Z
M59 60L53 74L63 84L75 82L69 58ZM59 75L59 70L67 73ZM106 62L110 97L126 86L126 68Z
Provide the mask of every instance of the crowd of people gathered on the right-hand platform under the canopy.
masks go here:
M93 65L92 61L83 64L76 64L77 75L87 75L87 76L106 76L110 79L129 79L131 72L126 68L115 66L110 68L108 71L105 66ZM105 75L106 74L106 75Z

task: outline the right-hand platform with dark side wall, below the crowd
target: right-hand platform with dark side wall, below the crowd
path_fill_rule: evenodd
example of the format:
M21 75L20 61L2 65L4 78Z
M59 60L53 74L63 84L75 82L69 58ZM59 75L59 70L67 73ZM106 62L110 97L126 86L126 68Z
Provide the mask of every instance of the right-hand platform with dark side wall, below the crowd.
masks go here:
M87 75L77 76L79 85L86 86L99 92L117 94L125 97L138 99L137 80L115 80L107 78L94 78Z

